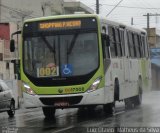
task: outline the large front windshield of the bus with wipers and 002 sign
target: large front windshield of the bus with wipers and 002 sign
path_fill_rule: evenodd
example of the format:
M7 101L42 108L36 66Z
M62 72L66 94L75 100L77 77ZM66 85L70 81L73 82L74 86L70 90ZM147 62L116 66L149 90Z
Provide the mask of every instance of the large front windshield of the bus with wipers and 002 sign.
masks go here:
M25 37L23 51L24 71L36 78L86 75L99 65L96 32Z

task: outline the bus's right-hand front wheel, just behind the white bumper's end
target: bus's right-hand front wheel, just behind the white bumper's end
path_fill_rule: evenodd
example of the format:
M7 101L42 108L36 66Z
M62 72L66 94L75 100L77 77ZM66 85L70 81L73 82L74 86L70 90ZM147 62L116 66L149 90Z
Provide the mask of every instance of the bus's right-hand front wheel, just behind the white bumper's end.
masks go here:
M103 105L103 110L107 115L113 115L115 113L115 103L108 103Z

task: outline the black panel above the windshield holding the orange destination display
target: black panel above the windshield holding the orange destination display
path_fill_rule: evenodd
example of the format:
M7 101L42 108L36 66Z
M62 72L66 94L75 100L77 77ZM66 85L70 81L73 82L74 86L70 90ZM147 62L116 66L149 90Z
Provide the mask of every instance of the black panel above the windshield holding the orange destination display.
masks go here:
M59 34L64 31L74 30L97 30L97 20L94 17L89 18L63 18L63 19L46 19L39 21L26 22L23 27L24 37L39 36L39 34L50 35L51 33ZM66 34L66 33L65 33Z

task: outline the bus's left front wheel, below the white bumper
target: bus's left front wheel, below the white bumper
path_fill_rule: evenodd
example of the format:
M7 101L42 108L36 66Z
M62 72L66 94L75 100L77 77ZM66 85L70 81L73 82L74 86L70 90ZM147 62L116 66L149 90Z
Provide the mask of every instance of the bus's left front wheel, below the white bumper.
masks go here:
M43 114L46 118L54 118L55 108L53 107L42 107Z

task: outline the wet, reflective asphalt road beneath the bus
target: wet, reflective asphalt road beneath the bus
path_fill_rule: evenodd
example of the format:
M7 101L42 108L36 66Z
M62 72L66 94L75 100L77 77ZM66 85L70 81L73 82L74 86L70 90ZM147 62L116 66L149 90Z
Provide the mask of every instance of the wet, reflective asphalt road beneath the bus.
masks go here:
M160 127L160 91L151 91L143 95L142 105L125 110L123 102L116 103L116 113L106 116L102 106L94 112L87 109L56 110L55 118L45 119L42 109L16 110L14 118L7 113L0 113L0 132L2 133L93 133L123 131L152 131L152 127ZM131 128L135 127L135 128ZM137 127L141 127L140 129ZM143 129L143 128L144 129ZM131 128L131 129L130 129ZM160 129L153 129L155 132Z

